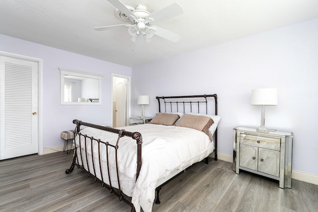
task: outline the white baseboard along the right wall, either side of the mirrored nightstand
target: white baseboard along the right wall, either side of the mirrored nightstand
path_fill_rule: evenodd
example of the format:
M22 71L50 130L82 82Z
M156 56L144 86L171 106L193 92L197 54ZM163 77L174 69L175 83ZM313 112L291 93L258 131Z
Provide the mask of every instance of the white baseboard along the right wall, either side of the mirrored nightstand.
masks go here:
M218 153L218 159L233 163L233 156L232 155ZM308 173L305 173L305 172L299 172L299 171L293 171L292 170L292 179L300 180L300 181L304 181L306 183L312 183L312 184L318 185L318 176L317 175L308 174Z

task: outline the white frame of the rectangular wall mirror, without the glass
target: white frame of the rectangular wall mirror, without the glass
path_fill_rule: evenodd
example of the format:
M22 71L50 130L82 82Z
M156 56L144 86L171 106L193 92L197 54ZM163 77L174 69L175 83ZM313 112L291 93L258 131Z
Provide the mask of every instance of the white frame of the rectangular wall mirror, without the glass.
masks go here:
M101 80L103 78L102 75L97 74L90 74L85 72L79 72L79 71L73 71L69 69L63 69L59 68L61 73L61 105L101 105ZM92 102L64 102L64 79L65 75L72 75L76 77L83 77L83 78L90 78L90 79L96 79L99 81L99 94L98 94L98 103L92 103Z

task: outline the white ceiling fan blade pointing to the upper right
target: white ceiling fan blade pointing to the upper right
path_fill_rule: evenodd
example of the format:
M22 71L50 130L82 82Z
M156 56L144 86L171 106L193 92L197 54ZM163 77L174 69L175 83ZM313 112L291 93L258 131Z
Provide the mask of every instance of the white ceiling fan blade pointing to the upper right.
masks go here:
M170 17L180 15L183 13L183 9L181 5L177 2L172 3L169 6L166 6L150 15L147 16L147 18L154 18L156 22L168 19Z

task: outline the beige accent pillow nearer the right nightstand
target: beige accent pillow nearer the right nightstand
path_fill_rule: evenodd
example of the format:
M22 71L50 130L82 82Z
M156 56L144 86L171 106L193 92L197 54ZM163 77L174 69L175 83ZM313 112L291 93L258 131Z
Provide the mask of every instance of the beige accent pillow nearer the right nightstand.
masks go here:
M213 119L208 116L185 113L175 125L200 130L207 134L210 140L213 141L212 134L209 130L213 123Z

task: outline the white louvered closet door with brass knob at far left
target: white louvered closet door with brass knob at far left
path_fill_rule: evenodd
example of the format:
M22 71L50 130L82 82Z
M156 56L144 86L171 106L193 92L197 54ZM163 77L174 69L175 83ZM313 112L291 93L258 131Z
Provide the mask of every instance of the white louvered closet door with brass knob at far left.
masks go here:
M0 159L38 153L38 63L0 56Z

